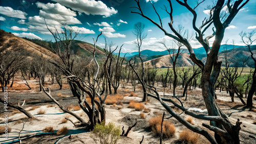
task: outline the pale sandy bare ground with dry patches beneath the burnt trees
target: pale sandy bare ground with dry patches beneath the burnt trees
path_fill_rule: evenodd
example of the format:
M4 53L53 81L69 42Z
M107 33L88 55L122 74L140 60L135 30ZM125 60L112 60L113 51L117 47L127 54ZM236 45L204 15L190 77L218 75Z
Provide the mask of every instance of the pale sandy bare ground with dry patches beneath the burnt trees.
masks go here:
M50 87L50 85L49 85ZM162 89L162 87L158 87L159 89ZM129 89L129 91L127 90ZM127 93L132 92L132 85L126 84L125 88L119 88L118 94L125 95ZM37 89L38 90L38 89ZM75 128L73 124L71 124L69 121L66 123L62 123L58 125L61 121L61 119L68 117L66 113L63 113L59 111L59 108L54 103L49 100L49 98L42 92L39 91L34 92L13 92L12 99L10 99L11 102L19 102L21 103L23 100L26 101L24 108L30 109L32 106L40 106L38 109L31 110L31 114L33 114L38 121L35 121L34 119L26 120L24 131L21 133L21 136L27 136L27 135L33 135L36 133L41 133L43 129L46 127L52 127L53 130L55 130L55 133L57 130L60 130L62 127L67 127L69 129L69 132L67 134L63 135L56 135L56 134L47 134L47 135L38 135L33 136L27 139L23 140L23 143L55 143L58 141L58 143L94 143L93 139L90 137L90 132L84 130L84 128ZM195 90L189 90L187 95L187 100L184 101L185 98L180 97L179 95L182 94L183 89L178 87L177 88L177 95L178 98L183 102L184 107L186 108L200 108L205 109L203 98L201 95L201 89L195 89ZM134 91L133 91L134 92ZM72 108L74 106L77 106L77 99L72 97L72 92L69 89L62 89L58 90L58 87L56 86L51 91L53 95L57 95L57 93L61 93L62 95L68 95L68 97L55 97L57 101L59 101L63 106L69 107L72 105ZM151 131L149 127L148 120L155 116L162 116L163 112L165 112L166 116L169 117L170 115L167 113L167 111L161 106L161 104L153 99L148 98L148 102L142 103L142 97L143 97L143 91L141 89L136 89L134 93L137 93L137 97L123 97L122 99L119 99L116 103L116 106L114 107L113 104L106 105L106 123L112 122L116 126L119 126L120 129L124 127L124 130L126 131L129 126L134 125L137 122L137 125L130 131L127 137L121 137L117 143L139 143L139 141L142 139L142 136L144 136L144 140L142 143L159 143L159 136L154 135L154 133ZM163 95L163 93L160 93ZM172 89L165 93L166 95L172 95ZM110 96L109 96L110 97ZM112 96L110 98L113 98ZM165 97L167 99L172 99L176 101L178 104L179 101L176 100L173 97ZM256 125L253 124L256 121L256 112L255 111L248 111L248 109L244 109L244 106L242 103L240 103L238 98L235 98L235 103L230 103L231 98L225 93L225 92L217 92L217 103L219 104L220 108L224 111L224 113L228 116L229 120L232 124L235 124L237 121L237 118L241 120L242 129L240 131L240 140L241 143L256 143L254 138L249 137L254 136L256 137ZM129 108L129 103L131 100L144 104L144 109L141 111L136 111L134 108ZM246 99L245 99L246 100ZM253 103L255 104L256 101L253 100ZM115 104L115 103L114 103ZM2 105L0 105L2 106ZM172 106L170 104L170 106ZM46 110L46 114L37 114L37 111L43 109ZM177 109L176 107L173 107L173 109L177 113L181 113L182 111ZM13 109L10 109L13 110ZM86 121L89 120L87 115L81 110L77 109L73 110L76 114L82 116ZM141 116L143 115L143 116ZM251 115L251 116L247 116ZM193 121L189 118L188 115L185 115L184 113L181 114L187 121L194 123L194 126L196 127L202 127L202 123L209 123L208 121L201 121L196 118L193 118ZM17 113L14 112L9 117L12 119L10 121L9 125L12 128L12 131L10 136L14 137L14 139L17 139L17 133L20 131L20 129L23 127L23 123L21 118L24 118L25 115L23 113ZM75 119L73 116L69 117L73 122L77 122L77 119ZM180 140L180 133L184 130L187 130L186 127L184 127L179 121L177 121L174 117L169 118L169 120L172 124L175 125L176 132L172 136L172 138L165 138L163 139L163 143L182 143L184 141ZM3 124L3 122L1 122ZM209 132L209 131L208 131ZM214 135L213 132L209 132L212 136ZM197 138L197 137L196 137ZM2 143L2 139L0 139L0 142ZM17 142L18 143L18 142ZM198 138L197 143L209 143L207 139L203 136L200 136Z

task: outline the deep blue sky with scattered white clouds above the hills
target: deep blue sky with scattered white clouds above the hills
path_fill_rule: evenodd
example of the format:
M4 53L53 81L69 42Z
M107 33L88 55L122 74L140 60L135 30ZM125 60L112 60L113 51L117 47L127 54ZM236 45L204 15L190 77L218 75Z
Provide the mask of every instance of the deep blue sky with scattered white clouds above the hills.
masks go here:
M148 0L141 0L143 13L159 22L152 6ZM162 10L163 5L168 5L166 0L154 0L155 7L158 10L163 27L171 33L168 28L168 14ZM191 21L193 15L180 6L176 1L172 1L174 8L174 26L182 24L190 33L195 34L192 29ZM196 6L195 1L188 2L191 7ZM202 3L197 9L199 26L202 20L208 16L206 7L212 5L210 0ZM169 45L172 45L172 39L166 37L150 21L138 14L131 13L136 11L130 7L136 6L135 1L131 0L110 0L110 1L89 1L89 0L2 0L0 1L0 28L12 32L20 37L38 38L52 40L53 37L46 29L44 19L53 30L62 30L62 25L79 30L77 39L92 43L92 37L96 37L101 31L107 40L113 41L115 45L123 45L122 52L134 52L136 47L133 41L136 39L133 35L133 26L136 22L145 23L145 32L147 37L143 44L143 50L163 51L159 43L165 39ZM225 9L225 8L224 8ZM212 25L213 27L213 25ZM224 40L229 39L228 43L234 39L236 45L243 45L239 33L241 31L256 30L256 1L249 1L248 4L238 13L234 20L226 29ZM209 29L206 35L211 34ZM214 38L210 39L212 42ZM194 48L201 47L194 37L190 41ZM99 46L104 46L104 38L100 37Z

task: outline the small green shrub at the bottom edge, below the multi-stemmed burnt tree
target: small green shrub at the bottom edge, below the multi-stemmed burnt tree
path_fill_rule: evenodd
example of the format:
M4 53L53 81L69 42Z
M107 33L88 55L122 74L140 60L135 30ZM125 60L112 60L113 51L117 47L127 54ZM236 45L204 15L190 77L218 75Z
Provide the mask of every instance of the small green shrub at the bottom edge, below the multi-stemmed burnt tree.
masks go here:
M116 127L115 124L105 123L96 124L92 131L91 137L95 143L100 144L115 144L120 138L121 130L119 127Z

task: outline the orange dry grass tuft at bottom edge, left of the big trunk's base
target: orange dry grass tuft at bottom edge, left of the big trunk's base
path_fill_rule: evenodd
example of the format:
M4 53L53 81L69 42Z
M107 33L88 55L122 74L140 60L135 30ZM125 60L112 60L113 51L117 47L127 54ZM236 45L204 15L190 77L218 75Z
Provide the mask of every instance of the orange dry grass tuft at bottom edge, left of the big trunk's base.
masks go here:
M180 140L183 141L184 143L197 143L200 138L200 135L197 133L194 133L189 130L183 130L180 133Z

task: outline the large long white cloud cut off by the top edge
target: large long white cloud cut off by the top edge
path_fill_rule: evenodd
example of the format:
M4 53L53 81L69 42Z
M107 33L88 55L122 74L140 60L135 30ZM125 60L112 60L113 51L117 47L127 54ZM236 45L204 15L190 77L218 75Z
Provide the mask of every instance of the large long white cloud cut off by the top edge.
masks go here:
M80 13L87 15L103 15L103 17L109 17L117 13L113 7L109 8L101 1L95 0L53 0L63 6L70 7Z

